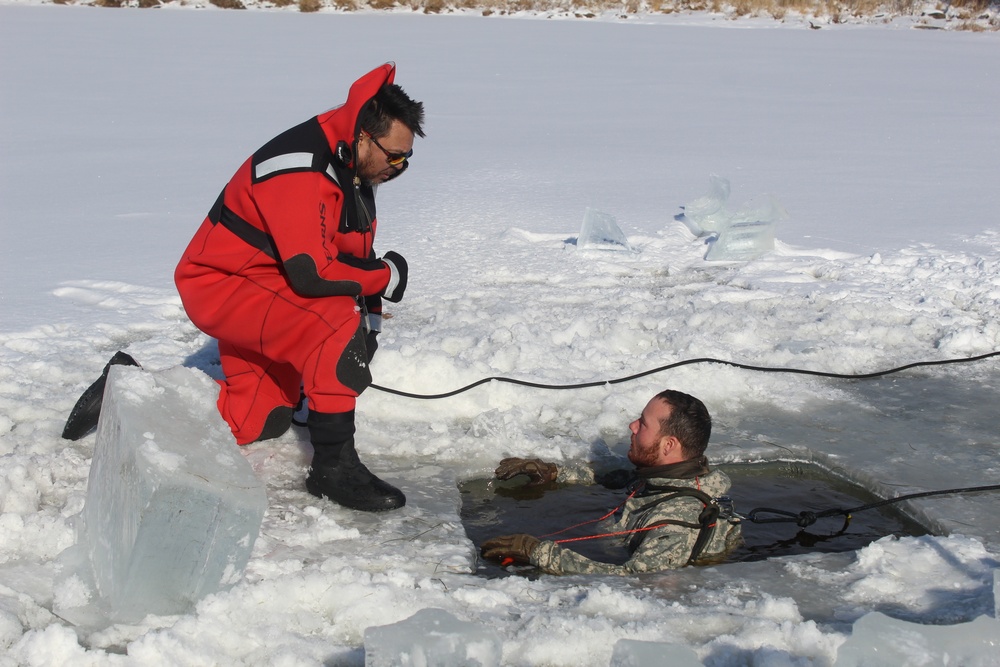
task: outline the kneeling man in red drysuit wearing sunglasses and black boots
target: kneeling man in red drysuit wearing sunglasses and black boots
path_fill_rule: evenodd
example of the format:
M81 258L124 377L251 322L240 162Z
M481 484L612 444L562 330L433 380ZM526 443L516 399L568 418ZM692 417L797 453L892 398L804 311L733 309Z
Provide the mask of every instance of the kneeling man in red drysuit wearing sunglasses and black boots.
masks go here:
M394 76L391 63L369 72L346 103L250 156L174 274L191 321L219 342L219 411L236 441L284 433L303 391L314 448L306 488L364 511L406 502L354 447L382 298L399 301L407 279L402 256L372 248L375 191L424 136L423 104Z

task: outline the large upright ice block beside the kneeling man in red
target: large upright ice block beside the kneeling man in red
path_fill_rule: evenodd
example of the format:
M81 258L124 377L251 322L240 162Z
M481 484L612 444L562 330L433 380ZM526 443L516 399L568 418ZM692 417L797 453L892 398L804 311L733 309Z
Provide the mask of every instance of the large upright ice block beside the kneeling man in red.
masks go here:
M81 534L57 587L67 616L182 613L242 577L267 496L216 395L194 369L111 367Z

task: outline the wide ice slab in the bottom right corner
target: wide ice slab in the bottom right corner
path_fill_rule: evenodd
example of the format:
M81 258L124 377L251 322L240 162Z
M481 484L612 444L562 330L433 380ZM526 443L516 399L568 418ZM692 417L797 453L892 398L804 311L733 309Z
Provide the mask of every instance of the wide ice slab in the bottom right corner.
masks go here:
M1000 621L980 616L971 623L920 625L880 612L865 614L837 650L835 667L1000 664Z

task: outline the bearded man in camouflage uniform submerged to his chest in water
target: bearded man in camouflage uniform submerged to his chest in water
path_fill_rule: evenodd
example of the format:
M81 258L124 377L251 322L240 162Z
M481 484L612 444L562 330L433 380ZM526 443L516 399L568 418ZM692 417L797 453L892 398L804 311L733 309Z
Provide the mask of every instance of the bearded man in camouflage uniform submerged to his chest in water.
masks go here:
M720 516L717 499L730 486L721 470L711 470L705 448L712 418L705 404L688 394L667 390L654 396L631 424L628 458L634 470L597 474L590 467L560 468L539 459L509 458L496 476L508 480L527 475L531 484L601 483L625 487L628 497L618 509L608 539L622 539L629 558L622 565L601 563L561 546L525 534L503 535L483 542L485 558L521 563L549 574L638 574L700 562L718 561L740 539L740 526ZM616 512L617 514L617 512Z

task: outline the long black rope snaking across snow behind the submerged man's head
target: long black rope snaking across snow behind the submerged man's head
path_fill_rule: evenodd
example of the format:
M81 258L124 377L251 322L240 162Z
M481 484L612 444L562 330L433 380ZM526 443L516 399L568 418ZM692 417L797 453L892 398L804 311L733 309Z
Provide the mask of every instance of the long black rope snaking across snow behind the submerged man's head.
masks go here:
M733 366L735 368L742 368L748 371L762 371L765 373L797 373L800 375L815 375L817 377L827 377L827 378L837 378L841 380L868 380L871 378L882 377L884 375L890 375L892 373L899 373L900 371L909 370L911 368L917 368L920 366L943 366L945 364L961 364L961 363L971 363L973 361L982 361L983 359L988 359L990 357L995 357L1000 355L1000 352L988 352L986 354L980 354L976 357L963 357L960 359L939 359L937 361L915 361L912 364L906 364L905 366L898 366L896 368L890 368L885 371L875 371L874 373L829 373L826 371L811 371L803 368L774 368L768 366L752 366L750 364L741 364L735 361L726 361L724 359L713 359L711 357L702 357L699 359L685 359L683 361L677 361L672 364L667 364L665 366L659 366L648 371L643 371L641 373L636 373L634 375L627 375L621 378L615 378L613 380L597 380L594 382L579 382L576 384L546 384L542 382L530 382L528 380L518 380L516 378L509 377L488 377L481 380L477 380L472 384L467 384L464 387L460 387L453 391L448 391L443 394L414 394L408 391L401 391L399 389L391 389L389 387L383 387L377 384L371 385L372 389L378 389L379 391L384 391L387 394L395 394L397 396L405 396L406 398L421 398L421 399L438 399L438 398L450 398L457 394L474 389L479 385L486 384L487 382L506 382L509 384L516 384L522 387L533 387L535 389L587 389L589 387L602 387L604 385L611 384L621 384L623 382L631 382L632 380L638 380L639 378L646 377L647 375L653 375L655 373L662 373L663 371L670 370L672 368L678 368L680 366L688 366L691 364L723 364L726 366Z

